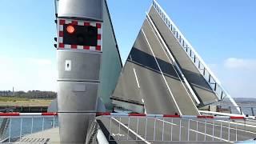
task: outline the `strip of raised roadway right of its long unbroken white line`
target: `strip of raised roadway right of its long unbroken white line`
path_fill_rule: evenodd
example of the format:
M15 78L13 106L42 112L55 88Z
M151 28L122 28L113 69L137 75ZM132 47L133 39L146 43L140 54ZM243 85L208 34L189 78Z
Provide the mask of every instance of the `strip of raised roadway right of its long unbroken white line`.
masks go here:
M190 94L186 90L186 85L181 81L178 76L178 70L175 70L173 64L170 63L170 59L167 57L166 51L160 45L158 38L154 35L154 31L151 29L148 21L145 21L142 30L146 34L150 46L154 52L154 56L157 58L160 69L166 78L166 82L170 87L170 91L174 96L174 100L178 104L178 108L181 110L182 114L198 115L198 109L194 105L194 102L190 98ZM161 95L161 93L159 94ZM170 94L168 94L170 98ZM154 113L152 113L154 114Z

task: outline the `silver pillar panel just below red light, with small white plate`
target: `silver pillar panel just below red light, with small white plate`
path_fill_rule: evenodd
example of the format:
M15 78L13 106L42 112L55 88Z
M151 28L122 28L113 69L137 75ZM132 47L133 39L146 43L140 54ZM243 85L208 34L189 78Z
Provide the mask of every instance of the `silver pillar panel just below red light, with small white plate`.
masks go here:
M58 80L98 81L101 53L58 50Z

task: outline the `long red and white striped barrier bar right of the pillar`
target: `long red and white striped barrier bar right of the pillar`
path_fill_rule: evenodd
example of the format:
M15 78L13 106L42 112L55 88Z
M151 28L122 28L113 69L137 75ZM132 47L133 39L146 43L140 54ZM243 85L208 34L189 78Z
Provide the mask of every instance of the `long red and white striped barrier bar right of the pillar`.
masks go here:
M211 115L171 115L171 114L119 114L119 113L96 113L96 116L116 117L154 117L154 118L204 118L204 119L246 119L244 116L211 116Z

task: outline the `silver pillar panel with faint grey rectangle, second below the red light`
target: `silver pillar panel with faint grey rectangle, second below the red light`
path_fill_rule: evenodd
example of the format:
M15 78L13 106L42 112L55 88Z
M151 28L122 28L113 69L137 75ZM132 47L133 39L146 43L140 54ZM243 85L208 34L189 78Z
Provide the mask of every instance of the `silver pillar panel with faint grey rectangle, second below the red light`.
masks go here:
M58 82L58 112L95 111L98 82Z

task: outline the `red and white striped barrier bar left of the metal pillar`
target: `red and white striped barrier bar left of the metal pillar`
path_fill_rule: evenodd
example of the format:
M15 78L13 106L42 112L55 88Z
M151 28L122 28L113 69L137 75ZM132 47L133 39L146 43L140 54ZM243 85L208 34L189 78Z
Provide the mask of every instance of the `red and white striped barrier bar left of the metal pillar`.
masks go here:
M58 115L58 113L0 113L1 116L54 116Z

